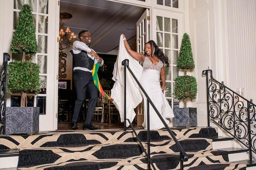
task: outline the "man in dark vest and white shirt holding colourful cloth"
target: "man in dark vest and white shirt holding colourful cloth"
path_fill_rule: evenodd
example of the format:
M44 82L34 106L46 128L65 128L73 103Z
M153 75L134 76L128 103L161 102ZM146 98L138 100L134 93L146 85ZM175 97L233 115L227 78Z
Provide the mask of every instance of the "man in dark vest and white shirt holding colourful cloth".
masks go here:
M74 113L71 122L71 129L78 130L77 120L85 101L86 94L89 94L89 106L86 114L86 119L83 125L83 130L95 130L91 121L97 104L98 90L93 84L92 70L94 58L96 62L103 65L104 61L100 58L93 49L90 48L92 37L89 31L79 32L79 40L73 43L74 57L74 82L76 87L76 102Z

